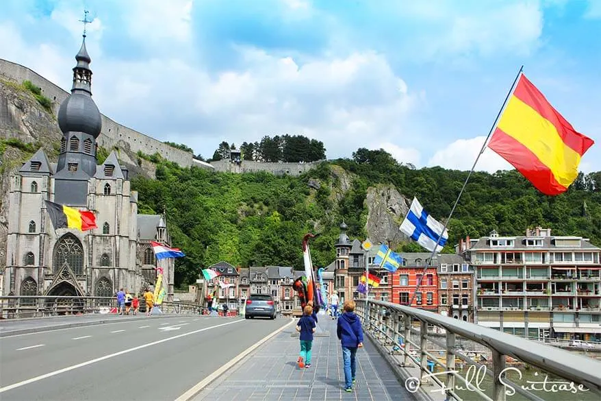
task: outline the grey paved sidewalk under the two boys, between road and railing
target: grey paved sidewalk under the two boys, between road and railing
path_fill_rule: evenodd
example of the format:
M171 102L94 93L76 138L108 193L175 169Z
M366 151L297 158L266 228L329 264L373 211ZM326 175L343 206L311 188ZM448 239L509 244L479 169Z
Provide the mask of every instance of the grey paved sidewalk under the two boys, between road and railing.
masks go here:
M194 401L413 400L367 339L357 352L357 383L353 393L346 393L335 321L324 316L320 328L326 336L314 339L309 369L296 365L300 348L294 324L290 324L205 387Z

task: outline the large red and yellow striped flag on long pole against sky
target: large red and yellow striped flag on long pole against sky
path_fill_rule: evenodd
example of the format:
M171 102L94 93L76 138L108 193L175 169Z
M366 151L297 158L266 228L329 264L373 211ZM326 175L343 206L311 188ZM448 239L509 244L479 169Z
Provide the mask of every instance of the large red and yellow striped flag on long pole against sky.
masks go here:
M521 75L488 147L539 191L559 195L576 180L580 158L593 143Z

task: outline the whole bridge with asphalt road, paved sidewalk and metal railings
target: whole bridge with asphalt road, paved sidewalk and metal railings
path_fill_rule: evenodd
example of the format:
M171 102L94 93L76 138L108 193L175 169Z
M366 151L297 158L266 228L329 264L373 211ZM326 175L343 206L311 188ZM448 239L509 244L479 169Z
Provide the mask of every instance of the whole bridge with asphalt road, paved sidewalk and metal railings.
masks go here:
M48 304L16 298L2 297L0 313L15 315L21 301L36 315L32 304ZM84 304L93 311L101 301ZM71 307L81 308L78 302ZM585 401L601 395L596 359L387 302L357 301L366 341L357 352L353 393L344 391L340 342L326 315L311 368L299 369L296 319L213 317L184 304L166 304L164 312L1 320L0 399ZM519 363L541 373L530 378L539 385L524 386ZM564 387L550 391L560 381Z

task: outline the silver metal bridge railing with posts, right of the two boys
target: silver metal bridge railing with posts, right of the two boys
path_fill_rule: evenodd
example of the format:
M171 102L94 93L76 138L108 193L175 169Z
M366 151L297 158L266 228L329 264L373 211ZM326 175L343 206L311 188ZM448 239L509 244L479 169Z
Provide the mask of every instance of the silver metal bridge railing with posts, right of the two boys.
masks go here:
M447 400L462 400L456 391L457 381L458 386L461 385L464 389L468 387L487 401L504 401L507 395L511 395L507 393L508 386L528 400L544 400L539 396L542 395L540 391L537 395L537 391L530 391L536 389L530 389L528 386L523 388L507 377L506 357L509 356L530 367L537 367L542 372L572 382L578 389L582 388L578 385L582 385L585 387L583 391L588 390L601 395L601 362L594 359L418 308L372 300L355 302L356 312L361 317L364 330L379 342L379 346L392 356L400 356L401 361L396 360L400 367L418 368L420 377L409 377L405 381L409 391L418 391L426 384L438 385L441 392L446 394ZM415 321L420 326L419 330L413 327ZM446 341L439 333L435 335L429 326L438 328L439 331L444 330ZM474 361L468 356L473 352L459 350L459 341L483 346L491 354L492 372L481 361ZM444 350L444 362L439 361L440 356L435 355L440 350ZM470 365L470 369L474 366L474 372L483 370L489 376L492 380L490 396L459 374L455 366L456 359ZM429 365L432 370L442 367L444 372L433 374ZM578 395L567 392L565 397L576 400Z

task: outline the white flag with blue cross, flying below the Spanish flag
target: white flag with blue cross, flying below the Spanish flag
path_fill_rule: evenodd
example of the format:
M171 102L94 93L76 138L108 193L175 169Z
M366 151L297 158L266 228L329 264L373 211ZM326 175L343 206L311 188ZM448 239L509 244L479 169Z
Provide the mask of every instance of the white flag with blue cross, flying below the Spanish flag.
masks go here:
M422 245L422 247L430 252L436 247L436 241L443 229L444 226L433 219L415 197L413 198L413 202L411 202L411 208L409 208L405 220L402 221L399 228L401 232L410 236L413 241ZM436 247L437 252L442 251L442 247L444 247L447 240L448 231L444 230L444 234Z

